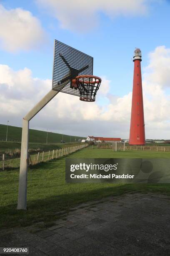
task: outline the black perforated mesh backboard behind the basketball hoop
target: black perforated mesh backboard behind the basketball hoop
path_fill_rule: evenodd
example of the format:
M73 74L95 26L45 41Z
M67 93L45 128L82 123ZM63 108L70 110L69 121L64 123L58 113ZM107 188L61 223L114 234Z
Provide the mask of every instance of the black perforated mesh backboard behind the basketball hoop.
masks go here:
M72 79L86 74L93 74L93 58L55 40L52 90L80 96L79 90L72 88Z

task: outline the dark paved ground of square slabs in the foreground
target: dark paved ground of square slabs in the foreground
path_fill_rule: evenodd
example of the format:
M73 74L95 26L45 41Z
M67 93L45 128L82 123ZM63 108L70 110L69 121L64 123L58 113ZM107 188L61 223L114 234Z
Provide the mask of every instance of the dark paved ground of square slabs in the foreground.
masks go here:
M55 223L36 234L22 228L1 232L0 246L27 246L31 256L170 255L170 197L165 195L107 197L79 205Z

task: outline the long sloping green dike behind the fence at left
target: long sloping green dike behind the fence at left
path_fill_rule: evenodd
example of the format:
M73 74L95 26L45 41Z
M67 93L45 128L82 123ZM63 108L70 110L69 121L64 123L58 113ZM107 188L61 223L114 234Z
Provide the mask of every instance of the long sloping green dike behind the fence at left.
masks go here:
M6 140L7 125L0 124L0 140ZM22 128L16 126L8 126L7 141L21 141ZM47 132L38 130L29 130L29 142L32 143L46 143ZM63 134L63 141L75 142L84 137L70 136ZM48 132L48 143L58 143L62 140L62 134Z

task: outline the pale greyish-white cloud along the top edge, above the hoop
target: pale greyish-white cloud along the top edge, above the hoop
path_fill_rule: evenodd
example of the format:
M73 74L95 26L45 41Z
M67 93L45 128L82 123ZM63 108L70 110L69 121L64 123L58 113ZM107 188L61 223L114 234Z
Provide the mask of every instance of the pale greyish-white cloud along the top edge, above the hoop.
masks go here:
M97 26L100 13L110 18L117 15L143 15L148 0L36 0L60 21L61 28L76 32L88 31Z

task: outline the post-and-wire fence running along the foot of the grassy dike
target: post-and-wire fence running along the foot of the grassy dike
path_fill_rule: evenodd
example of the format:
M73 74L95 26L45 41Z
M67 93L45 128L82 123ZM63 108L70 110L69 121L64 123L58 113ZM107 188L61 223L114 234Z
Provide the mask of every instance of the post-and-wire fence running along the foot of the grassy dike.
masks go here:
M37 152L37 154L28 154L28 164L33 166L40 162L50 161L52 159L59 159L63 156L72 154L78 150L86 148L89 146L87 143L77 146L70 146L60 149L53 149L49 151ZM20 158L7 159L5 160L5 154L2 154L2 161L0 161L0 170L4 171L5 169L18 169L20 166Z

